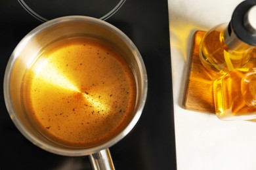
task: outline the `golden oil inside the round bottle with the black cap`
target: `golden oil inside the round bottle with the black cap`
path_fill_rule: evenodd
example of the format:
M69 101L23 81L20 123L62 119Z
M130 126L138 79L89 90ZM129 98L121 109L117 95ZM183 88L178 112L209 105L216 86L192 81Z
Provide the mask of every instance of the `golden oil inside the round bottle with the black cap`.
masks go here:
M207 69L227 73L241 68L251 58L251 47L241 44L239 48L230 48L225 41L226 24L218 25L207 32L200 44L200 59Z

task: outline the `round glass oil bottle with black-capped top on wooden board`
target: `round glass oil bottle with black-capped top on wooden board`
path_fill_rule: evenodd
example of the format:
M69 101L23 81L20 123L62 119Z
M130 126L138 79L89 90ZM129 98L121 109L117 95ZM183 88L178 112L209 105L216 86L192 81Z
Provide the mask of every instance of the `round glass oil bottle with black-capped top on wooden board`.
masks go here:
M243 1L228 24L217 25L205 33L200 43L204 67L224 75L247 63L256 46L255 5L256 0Z

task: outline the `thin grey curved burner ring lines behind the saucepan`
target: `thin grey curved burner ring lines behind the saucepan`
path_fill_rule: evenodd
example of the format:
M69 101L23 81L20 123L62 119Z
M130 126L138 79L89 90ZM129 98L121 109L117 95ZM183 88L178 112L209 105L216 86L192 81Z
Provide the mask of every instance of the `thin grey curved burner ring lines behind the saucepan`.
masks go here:
M117 10L119 10L122 5L125 3L126 0L120 0L119 3L117 3L117 5L110 10L110 12L106 13L104 16L98 18L100 20L106 20L108 18L110 18L112 15L114 15ZM37 20L41 21L41 22L47 22L49 19L44 18L43 16L37 14L37 12L35 12L33 9L31 9L24 0L18 0L18 2L20 3L20 5L22 5L22 7L28 12L30 13L34 18L36 18Z

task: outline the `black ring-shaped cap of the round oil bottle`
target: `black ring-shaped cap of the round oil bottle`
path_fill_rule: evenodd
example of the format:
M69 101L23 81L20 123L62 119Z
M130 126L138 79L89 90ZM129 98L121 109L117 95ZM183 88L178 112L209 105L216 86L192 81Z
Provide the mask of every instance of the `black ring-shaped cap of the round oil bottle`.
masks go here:
M243 1L234 10L230 21L232 31L234 31L236 36L252 46L256 46L256 33L254 28L248 23L247 17L248 11L255 5L256 0Z

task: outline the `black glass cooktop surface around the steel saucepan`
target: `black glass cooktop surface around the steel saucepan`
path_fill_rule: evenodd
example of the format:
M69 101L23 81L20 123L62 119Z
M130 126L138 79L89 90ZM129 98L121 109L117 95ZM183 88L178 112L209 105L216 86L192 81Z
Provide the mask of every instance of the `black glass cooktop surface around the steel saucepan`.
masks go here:
M167 0L112 0L94 6L90 3L95 1L86 1L79 9L74 4L85 1L68 2L0 1L1 84L15 46L45 20L71 14L106 20L135 43L148 73L148 95L139 122L110 148L114 165L116 169L177 169ZM3 86L0 100L0 169L91 169L87 156L58 156L30 143L9 117Z

